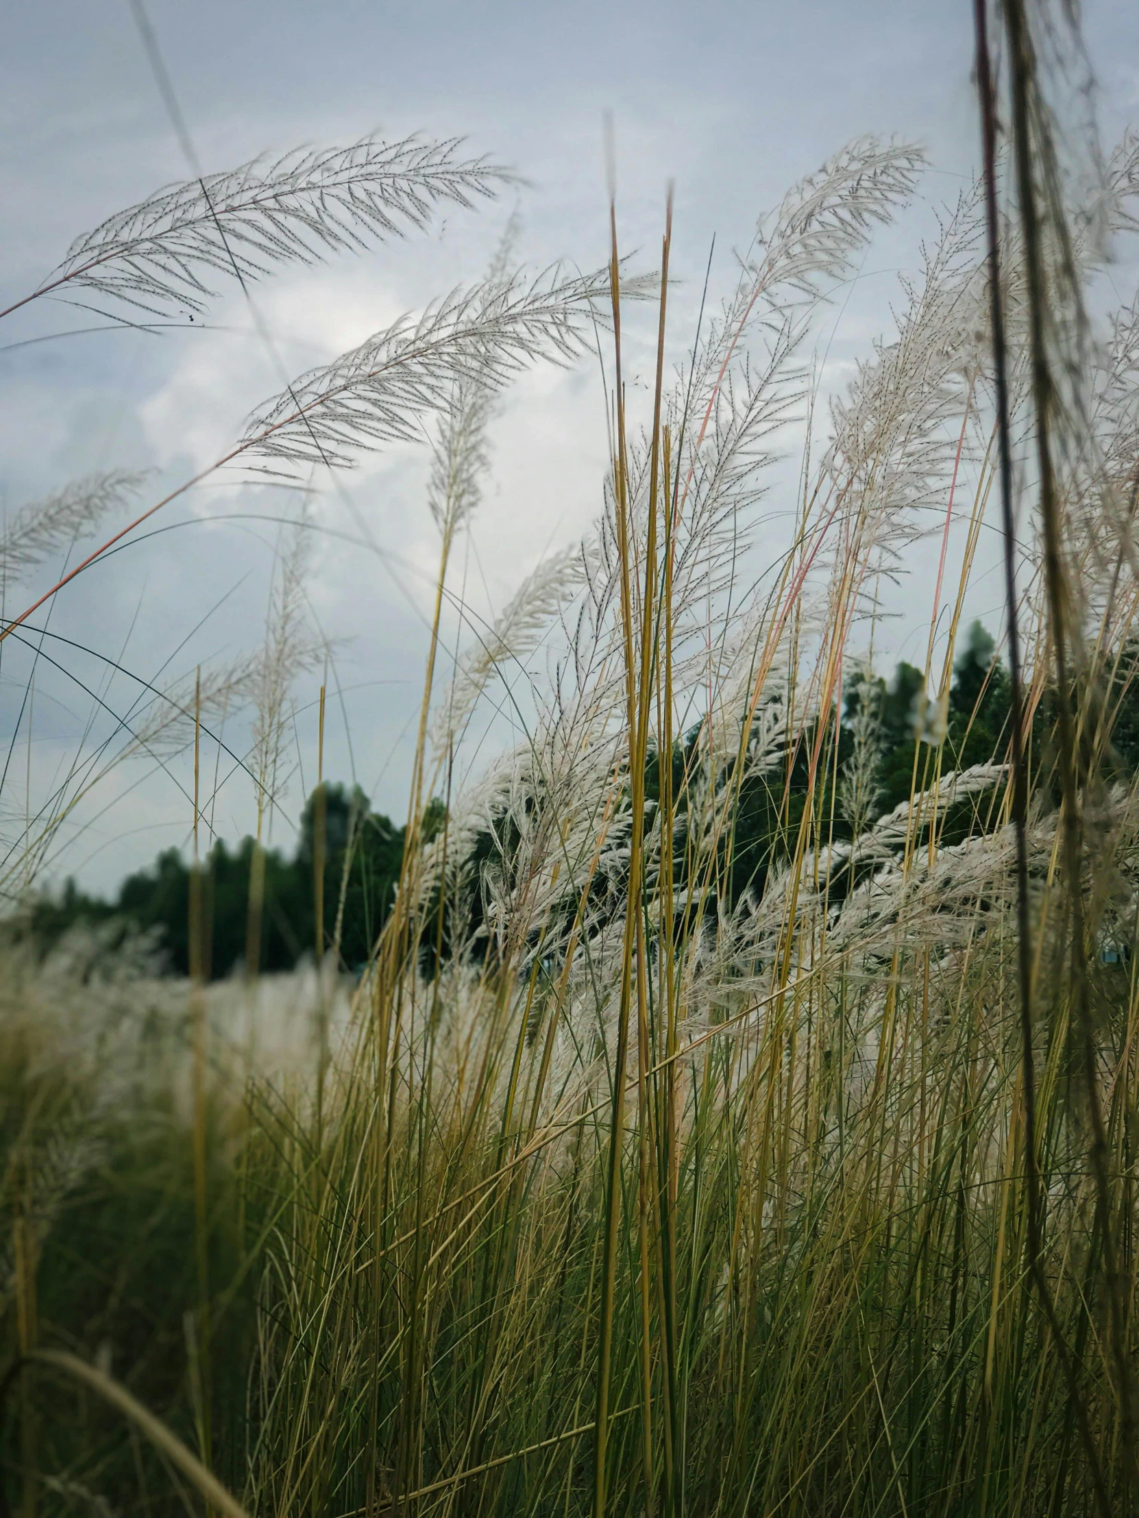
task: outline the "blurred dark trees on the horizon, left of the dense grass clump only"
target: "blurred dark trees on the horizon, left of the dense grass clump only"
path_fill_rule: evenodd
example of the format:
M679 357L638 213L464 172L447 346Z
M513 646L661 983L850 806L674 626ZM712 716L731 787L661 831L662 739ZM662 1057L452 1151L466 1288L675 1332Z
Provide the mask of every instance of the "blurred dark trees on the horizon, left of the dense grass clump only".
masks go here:
M314 891L316 794L301 817L301 836L292 859L276 849L264 852L264 909L261 917L261 970L289 970L316 947ZM349 968L368 961L390 909L402 861L404 830L372 812L368 797L354 786L325 786L323 943L336 938L340 897L340 959ZM205 917L210 973L226 976L245 962L249 920L249 877L254 839L237 849L223 839L204 861ZM345 870L345 864L348 868ZM43 899L32 911L32 929L43 944L53 943L77 921L117 920L123 927L149 931L172 970L187 975L190 923L190 868L178 849L167 849L147 870L128 876L114 902L85 896L68 880L58 899Z

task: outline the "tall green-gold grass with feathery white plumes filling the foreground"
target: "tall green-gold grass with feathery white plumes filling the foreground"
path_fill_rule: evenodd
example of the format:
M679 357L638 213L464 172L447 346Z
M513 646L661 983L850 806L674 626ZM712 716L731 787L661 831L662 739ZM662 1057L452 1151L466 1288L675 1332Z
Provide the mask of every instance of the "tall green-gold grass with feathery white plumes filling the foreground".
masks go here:
M140 1019L175 988L126 950L11 950L5 1462L26 1513L167 1512L194 1488L333 1518L1136 1510L1136 797L1112 732L1134 672L1139 317L1100 349L1083 298L1139 155L1072 205L1037 59L1075 43L1013 0L1001 20L1010 161L980 5L981 179L822 445L812 425L787 553L750 591L768 451L811 399L800 354L911 197L910 147L852 144L761 220L671 387L671 205L652 284L614 206L604 275L524 279L507 240L474 293L255 414L237 451L292 463L437 416L399 891L351 1016L317 981L311 1069L226 1058L194 990L188 1104L179 1017ZM234 216L243 182L222 185ZM111 294L135 290L123 226L93 244ZM302 234L314 252L304 223L281 257ZM226 272L225 234L194 235ZM172 266L140 267L158 299ZM79 254L46 288L73 278L96 278ZM623 334L650 288L638 433ZM603 319L604 513L440 692L494 396ZM1011 721L961 765L955 644L995 495L1010 669L970 721L1001 682ZM928 533L910 794L882 812L860 627ZM258 688L258 815L287 663ZM472 773L500 695L525 741Z

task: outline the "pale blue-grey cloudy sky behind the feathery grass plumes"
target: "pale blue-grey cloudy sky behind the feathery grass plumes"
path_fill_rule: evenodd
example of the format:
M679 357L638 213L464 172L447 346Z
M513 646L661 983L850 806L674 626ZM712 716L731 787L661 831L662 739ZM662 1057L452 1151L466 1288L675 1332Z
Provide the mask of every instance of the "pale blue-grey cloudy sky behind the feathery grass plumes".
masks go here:
M446 211L425 235L258 284L260 334L232 291L193 329L164 332L77 331L106 323L49 301L15 313L0 323L8 513L111 468L152 471L144 498L158 499L225 451L254 405L282 387L284 372L325 363L477 278L512 213L527 263L598 267L607 254L606 115L621 246L644 267L656 258L665 185L676 185L673 361L696 322L712 238L715 299L732 285L734 249L747 244L756 216L843 143L870 132L926 147L931 170L917 205L875 241L825 325L835 387L873 339L888 334L899 272L916 267L937 205L967 184L977 161L969 0L146 0L146 14L207 172L380 131L463 137L472 153L512 165L524 182L478 211ZM1139 112L1139 6L1093 0L1086 35L1110 143ZM0 52L0 307L35 288L74 235L188 173L126 0L9 8ZM642 325L630 334L635 401L638 386L647 393L652 354L652 322ZM595 363L539 367L510 390L456 571L456 589L478 616L494 615L544 553L595 518L606 449ZM307 505L319 528L310 613L336 650L325 774L355 779L396 818L405 812L437 559L425 469L422 449L392 448L339 481L314 480ZM216 477L147 524L161 531L135 534L62 591L49 624L33 619L93 653L65 656L70 645L44 644L30 695L32 653L6 641L0 855L9 865L76 754L114 733L138 697L128 676L111 677L106 659L159 683L257 647L281 540L273 518L299 505L295 492ZM30 598L47 583L9 589L9 615L12 597ZM995 621L999 597L992 575L986 589L984 566L977 595L977 609ZM901 606L919 613L920 600L919 565ZM899 618L898 653L914 628L923 636L917 615ZM49 663L52 650L67 668ZM295 692L296 774L273 823L273 841L284 846L316 777L319 682L313 672ZM103 706L93 707L94 697ZM240 751L245 741L235 729L232 747ZM225 776L220 759L216 773ZM214 770L211 786L213 779ZM114 768L61 826L46 879L74 873L88 888L109 890L161 847L184 847L188 786L185 759L166 770ZM232 839L252 817L252 786L238 771L220 785L210 821Z

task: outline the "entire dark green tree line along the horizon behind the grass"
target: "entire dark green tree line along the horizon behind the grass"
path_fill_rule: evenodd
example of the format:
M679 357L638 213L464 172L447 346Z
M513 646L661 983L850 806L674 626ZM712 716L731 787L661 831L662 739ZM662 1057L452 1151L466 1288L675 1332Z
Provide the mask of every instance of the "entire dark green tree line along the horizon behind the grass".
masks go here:
M1118 767L1133 773L1139 767L1139 695L1130 665L1121 669L1112 695L1113 745ZM832 724L829 742L837 753L817 767L809 785L811 733L800 733L787 753L787 765L773 785L767 776L747 777L740 786L730 838L730 856L723 874L727 896L735 900L747 890L762 896L768 870L782 858L794 838L805 806L820 808L831 818L835 839L850 838L875 818L920 789L925 774L922 750L943 744L942 773L964 770L999 757L1008 741L1008 676L996 657L993 638L973 622L954 663L954 677L943 709L926 697L925 677L910 663L899 663L887 682L864 672L846 682L841 721ZM1046 718L1046 713L1042 713ZM866 745L861 765L861 803L843 794L850 785L857 747ZM829 745L828 742L828 745ZM694 736L677 741L673 751L673 795L683 808L685 773L694 751ZM650 756L645 794L659 794L659 756ZM942 820L945 841L967 829L984 830L986 817L973 803L961 815ZM433 800L422 821L430 841L445 824L442 802ZM207 853L204 870L204 941L207 972L213 978L243 967L249 946L258 946L258 972L293 968L305 955L334 949L348 970L361 968L390 911L404 856L405 829L374 812L358 786L323 785L304 808L298 842L287 856L266 849L264 893L255 934L249 932L251 883L255 879L258 846L252 838L237 847L217 839ZM509 818L478 835L460 876L474 887L462 911L472 914L462 937L477 950L481 893L478 876L491 858L501 867L510 864L516 829ZM317 868L317 855L323 868ZM677 858L679 883L685 864ZM146 870L128 876L114 899L80 891L68 880L61 893L46 894L30 908L30 929L44 947L77 923L117 923L123 931L150 934L166 965L176 975L190 968L190 876L191 867L178 849L167 849ZM317 893L317 883L320 891ZM317 938L317 899L322 897ZM457 924L448 924L443 952Z

